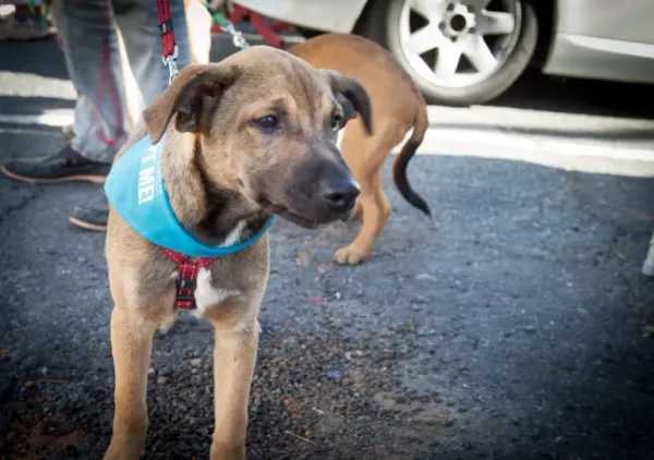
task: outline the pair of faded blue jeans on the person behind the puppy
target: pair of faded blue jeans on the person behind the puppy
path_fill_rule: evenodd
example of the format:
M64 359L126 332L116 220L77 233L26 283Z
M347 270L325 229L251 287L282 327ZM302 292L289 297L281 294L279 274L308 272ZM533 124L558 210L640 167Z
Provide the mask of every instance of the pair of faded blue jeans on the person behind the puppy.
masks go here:
M191 62L184 0L169 1L181 69ZM168 86L157 2L53 0L52 13L77 90L71 146L90 160L112 162L129 136L117 29L145 105L153 104Z

